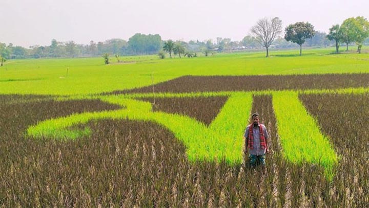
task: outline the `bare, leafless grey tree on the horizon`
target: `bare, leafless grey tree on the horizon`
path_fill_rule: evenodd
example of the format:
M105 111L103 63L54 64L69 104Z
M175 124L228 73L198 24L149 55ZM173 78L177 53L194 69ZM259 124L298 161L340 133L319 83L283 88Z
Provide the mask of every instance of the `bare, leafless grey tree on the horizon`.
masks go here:
M270 19L264 17L251 28L251 33L255 36L256 41L267 49L267 56L265 57L269 56L269 46L281 32L282 21L278 17Z

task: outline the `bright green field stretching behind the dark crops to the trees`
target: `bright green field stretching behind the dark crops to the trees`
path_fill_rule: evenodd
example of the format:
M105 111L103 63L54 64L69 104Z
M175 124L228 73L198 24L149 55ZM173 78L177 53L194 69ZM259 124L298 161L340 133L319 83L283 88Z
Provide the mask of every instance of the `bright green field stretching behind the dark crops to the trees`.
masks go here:
M132 63L104 65L103 58L9 60L0 67L0 93L90 94L151 85L182 75L251 75L369 72L369 54L331 54L333 48L215 54L159 60L121 57ZM67 68L68 77L66 76ZM152 80L153 79L153 80Z

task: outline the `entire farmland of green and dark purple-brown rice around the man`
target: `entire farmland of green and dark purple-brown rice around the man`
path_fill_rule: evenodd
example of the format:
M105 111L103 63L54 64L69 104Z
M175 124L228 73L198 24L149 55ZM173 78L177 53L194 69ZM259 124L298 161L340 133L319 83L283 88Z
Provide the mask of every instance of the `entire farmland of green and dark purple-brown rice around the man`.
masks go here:
M0 205L366 206L368 56L306 53L9 62ZM256 111L265 174L243 155Z

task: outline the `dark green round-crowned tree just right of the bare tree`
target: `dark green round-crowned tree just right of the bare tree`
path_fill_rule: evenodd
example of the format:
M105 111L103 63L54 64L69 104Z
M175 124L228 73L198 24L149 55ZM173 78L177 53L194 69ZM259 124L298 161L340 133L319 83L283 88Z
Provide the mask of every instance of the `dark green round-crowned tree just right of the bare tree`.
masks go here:
M300 46L300 55L302 54L302 44L306 39L311 39L315 34L314 26L308 22L297 22L285 28L284 39L297 43Z

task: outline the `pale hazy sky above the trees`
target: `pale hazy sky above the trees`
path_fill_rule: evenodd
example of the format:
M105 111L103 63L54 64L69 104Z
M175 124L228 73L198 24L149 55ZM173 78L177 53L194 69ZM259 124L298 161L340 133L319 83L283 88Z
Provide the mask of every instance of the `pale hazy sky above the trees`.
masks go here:
M88 44L135 33L162 40L240 41L263 17L278 16L283 28L310 22L328 32L348 17L369 19L368 0L1 0L0 42L29 47L57 41Z

